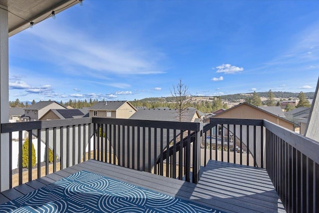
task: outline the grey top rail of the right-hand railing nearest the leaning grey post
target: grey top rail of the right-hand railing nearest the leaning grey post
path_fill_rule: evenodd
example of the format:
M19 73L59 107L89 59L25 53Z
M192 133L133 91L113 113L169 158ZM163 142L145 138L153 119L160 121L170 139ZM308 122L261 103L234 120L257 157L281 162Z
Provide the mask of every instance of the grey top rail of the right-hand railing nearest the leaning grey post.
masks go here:
M264 127L319 164L319 142L266 120Z

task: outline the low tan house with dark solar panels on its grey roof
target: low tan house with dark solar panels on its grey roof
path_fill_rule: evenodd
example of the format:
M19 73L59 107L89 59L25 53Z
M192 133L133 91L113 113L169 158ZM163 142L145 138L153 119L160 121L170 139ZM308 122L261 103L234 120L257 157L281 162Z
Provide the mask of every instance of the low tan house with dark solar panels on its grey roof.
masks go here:
M88 117L88 108L86 109L50 109L39 120L58 120L68 118Z

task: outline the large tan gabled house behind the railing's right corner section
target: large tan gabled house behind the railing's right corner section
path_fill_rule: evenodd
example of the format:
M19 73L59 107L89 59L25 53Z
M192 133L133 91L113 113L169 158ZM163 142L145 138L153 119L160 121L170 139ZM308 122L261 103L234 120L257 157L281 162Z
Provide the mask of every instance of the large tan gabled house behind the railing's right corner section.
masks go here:
M264 119L292 131L295 131L296 126L293 122L286 120L285 118L272 114L246 102L227 109L226 111L213 116L213 118Z

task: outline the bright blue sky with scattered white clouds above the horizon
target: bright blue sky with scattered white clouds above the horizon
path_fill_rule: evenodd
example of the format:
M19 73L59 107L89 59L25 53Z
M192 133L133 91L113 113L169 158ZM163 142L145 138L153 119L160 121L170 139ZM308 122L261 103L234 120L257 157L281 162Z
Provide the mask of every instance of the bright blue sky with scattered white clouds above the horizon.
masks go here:
M84 0L9 38L9 100L315 91L319 1Z

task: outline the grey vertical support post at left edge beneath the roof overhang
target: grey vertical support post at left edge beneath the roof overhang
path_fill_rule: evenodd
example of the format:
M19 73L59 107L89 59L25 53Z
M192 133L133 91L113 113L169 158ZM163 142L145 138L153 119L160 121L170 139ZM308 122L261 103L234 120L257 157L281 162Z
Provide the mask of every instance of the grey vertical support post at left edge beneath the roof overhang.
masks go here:
M8 12L0 5L0 122L9 122ZM1 127L0 127L1 130ZM9 189L9 134L0 134L0 191Z

